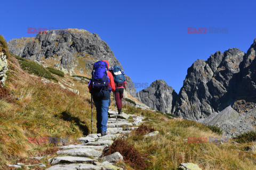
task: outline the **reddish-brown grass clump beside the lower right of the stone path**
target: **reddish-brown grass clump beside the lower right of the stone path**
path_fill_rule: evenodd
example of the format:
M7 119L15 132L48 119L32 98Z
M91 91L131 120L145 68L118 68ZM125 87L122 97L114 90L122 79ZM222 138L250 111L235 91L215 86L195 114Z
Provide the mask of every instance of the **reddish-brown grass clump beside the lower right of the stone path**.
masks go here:
M124 139L117 139L114 143L109 147L104 156L114 154L115 152L119 152L126 164L129 164L133 168L136 169L145 169L147 168L144 159L139 151L134 149L133 146L129 145Z

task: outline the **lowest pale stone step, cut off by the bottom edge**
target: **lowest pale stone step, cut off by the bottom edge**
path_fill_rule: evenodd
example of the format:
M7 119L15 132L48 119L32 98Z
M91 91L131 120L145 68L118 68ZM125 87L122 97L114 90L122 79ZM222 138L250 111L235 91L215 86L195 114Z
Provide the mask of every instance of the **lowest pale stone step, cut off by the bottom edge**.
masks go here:
M100 170L104 169L103 166L96 166L92 164L65 164L65 165L54 165L50 168L47 168L46 170L77 170L77 169L83 169L83 170Z

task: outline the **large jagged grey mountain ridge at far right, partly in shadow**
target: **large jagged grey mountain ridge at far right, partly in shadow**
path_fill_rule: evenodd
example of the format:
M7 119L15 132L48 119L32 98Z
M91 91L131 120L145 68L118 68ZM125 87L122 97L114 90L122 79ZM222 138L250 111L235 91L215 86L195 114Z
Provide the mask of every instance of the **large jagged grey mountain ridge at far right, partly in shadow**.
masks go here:
M231 48L212 54L207 61L197 60L188 69L174 114L198 120L238 99L256 97L255 49L256 39L246 54Z

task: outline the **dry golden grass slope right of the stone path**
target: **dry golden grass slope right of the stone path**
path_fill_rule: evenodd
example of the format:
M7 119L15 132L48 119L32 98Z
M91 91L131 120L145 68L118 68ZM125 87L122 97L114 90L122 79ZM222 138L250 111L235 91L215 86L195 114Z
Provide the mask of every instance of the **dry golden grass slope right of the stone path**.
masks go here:
M202 169L255 169L256 156L245 146L228 143L209 143L209 137L219 137L206 126L193 121L167 120L163 115L144 113L147 124L160 133L153 138L130 133L129 142L142 154L148 155L149 169L176 169L180 163L195 163ZM188 143L187 137L207 138L207 143Z

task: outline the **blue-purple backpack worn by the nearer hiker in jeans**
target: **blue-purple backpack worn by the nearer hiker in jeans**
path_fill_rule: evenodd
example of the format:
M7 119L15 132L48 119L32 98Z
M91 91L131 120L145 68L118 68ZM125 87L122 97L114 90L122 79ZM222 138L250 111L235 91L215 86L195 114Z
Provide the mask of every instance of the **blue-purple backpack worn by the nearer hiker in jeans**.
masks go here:
M108 88L109 78L108 78L108 64L103 61L98 61L93 64L92 71L92 90L101 91L102 89Z

